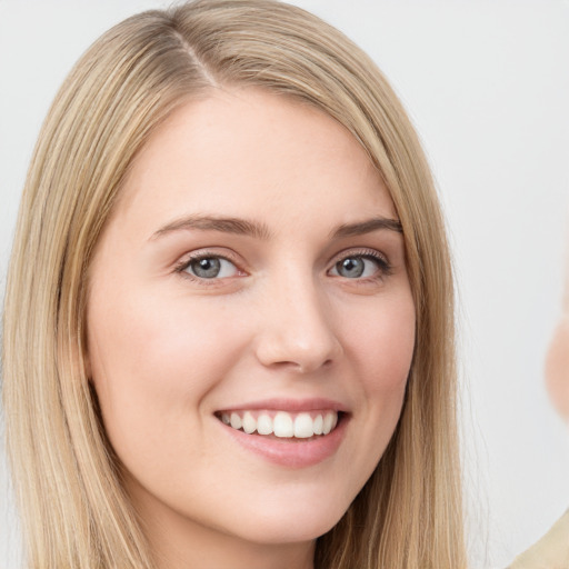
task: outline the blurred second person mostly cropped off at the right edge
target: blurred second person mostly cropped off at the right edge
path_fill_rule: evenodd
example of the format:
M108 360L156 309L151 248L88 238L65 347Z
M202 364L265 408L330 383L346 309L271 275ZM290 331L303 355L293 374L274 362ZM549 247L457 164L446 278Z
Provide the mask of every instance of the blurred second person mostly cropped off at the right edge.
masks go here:
M569 250L561 318L546 358L546 385L553 407L569 426ZM569 506L569 505L568 505ZM510 569L569 569L569 510Z

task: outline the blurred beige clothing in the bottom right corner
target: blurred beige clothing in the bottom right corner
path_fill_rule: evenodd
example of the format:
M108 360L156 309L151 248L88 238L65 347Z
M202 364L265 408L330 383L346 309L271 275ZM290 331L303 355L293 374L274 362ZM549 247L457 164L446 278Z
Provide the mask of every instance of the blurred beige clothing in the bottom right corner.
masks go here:
M569 510L509 569L569 569Z

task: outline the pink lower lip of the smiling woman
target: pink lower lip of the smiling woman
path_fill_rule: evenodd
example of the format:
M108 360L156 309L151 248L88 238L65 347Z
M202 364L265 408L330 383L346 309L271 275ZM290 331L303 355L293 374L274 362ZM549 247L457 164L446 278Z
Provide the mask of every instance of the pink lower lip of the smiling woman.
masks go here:
M289 468L307 468L336 453L340 447L349 418L343 415L337 427L329 435L321 435L310 440L274 439L262 435L247 435L219 421L226 432L239 445L266 460Z

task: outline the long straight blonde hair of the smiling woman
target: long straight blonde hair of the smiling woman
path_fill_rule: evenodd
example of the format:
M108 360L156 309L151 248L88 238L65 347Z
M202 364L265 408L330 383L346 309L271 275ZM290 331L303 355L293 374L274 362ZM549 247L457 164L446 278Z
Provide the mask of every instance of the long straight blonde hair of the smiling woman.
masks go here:
M361 143L403 228L417 340L390 445L316 567L466 567L456 426L453 292L430 171L373 62L310 13L200 0L134 16L80 59L43 124L19 213L3 316L3 405L30 569L154 567L84 367L88 270L156 128L216 86L312 104Z

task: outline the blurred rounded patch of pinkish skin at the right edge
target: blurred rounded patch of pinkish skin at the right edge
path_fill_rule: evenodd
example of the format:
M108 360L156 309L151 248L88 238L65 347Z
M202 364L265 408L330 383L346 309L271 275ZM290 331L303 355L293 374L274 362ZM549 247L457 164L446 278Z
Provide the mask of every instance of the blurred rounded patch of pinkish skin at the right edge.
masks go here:
M569 420L569 318L559 323L549 346L546 382L556 409Z

